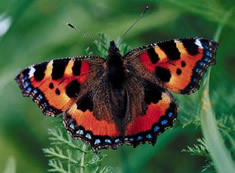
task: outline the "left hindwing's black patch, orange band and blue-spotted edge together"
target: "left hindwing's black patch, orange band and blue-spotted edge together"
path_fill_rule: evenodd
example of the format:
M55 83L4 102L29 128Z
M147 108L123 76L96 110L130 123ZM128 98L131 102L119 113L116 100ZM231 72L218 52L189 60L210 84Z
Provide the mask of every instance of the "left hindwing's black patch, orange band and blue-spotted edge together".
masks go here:
M88 142L93 151L102 148L116 149L122 144L110 111L104 111L102 119L96 118L92 96L87 93L73 104L64 115L64 126L75 139Z

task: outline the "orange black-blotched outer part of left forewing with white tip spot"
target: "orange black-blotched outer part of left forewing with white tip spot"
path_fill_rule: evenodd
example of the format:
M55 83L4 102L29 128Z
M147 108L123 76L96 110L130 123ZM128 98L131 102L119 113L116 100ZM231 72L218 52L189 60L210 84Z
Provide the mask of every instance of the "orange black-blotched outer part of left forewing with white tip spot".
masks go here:
M90 70L85 59L57 59L24 69L16 81L23 95L32 97L44 114L56 116L75 101Z

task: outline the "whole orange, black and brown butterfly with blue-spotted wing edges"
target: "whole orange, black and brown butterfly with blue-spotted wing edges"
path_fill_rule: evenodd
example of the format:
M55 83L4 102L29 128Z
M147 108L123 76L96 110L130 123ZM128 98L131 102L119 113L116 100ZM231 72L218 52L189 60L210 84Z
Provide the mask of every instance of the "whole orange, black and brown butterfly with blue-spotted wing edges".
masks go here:
M43 114L62 113L66 130L98 149L156 143L172 127L178 104L170 91L191 94L216 63L218 43L174 39L121 55L110 41L106 59L79 56L32 65L16 76L23 96Z

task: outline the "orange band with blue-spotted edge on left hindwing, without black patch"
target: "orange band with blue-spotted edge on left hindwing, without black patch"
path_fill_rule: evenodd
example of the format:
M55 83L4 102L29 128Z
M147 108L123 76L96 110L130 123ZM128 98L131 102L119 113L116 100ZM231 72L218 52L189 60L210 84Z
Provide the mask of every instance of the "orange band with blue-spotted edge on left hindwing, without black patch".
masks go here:
M93 151L102 148L116 149L122 144L116 124L96 119L89 110L83 112L72 106L64 116L64 125L73 138L88 142Z

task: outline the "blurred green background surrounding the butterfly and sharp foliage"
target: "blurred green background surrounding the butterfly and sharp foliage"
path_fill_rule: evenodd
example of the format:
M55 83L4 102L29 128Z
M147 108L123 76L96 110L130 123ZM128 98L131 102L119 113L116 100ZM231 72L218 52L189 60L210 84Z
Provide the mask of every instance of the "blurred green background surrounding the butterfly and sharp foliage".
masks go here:
M49 146L48 128L56 126L54 118L44 116L31 99L22 97L14 81L16 74L31 64L85 55L88 46L92 50L93 42L66 26L67 22L91 35L103 32L116 39L146 5L150 9L123 41L132 48L173 38L213 39L235 1L0 1L0 172L7 164L16 172L47 172L48 158L42 148ZM220 36L217 65L211 71L210 92L217 119L235 115L234 21L232 13ZM102 164L113 167L113 172L200 172L205 159L182 152L202 136L200 126L193 125L201 104L197 96L176 96L180 111L175 128L160 135L155 147L102 150L107 154Z

